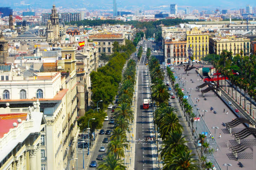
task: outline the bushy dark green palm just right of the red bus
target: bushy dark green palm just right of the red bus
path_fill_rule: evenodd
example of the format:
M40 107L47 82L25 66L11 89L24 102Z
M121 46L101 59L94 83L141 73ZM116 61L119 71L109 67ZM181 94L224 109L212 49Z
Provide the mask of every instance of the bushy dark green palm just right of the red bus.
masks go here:
M160 103L167 103L167 100L170 96L167 86L164 84L156 85L152 89L152 98L156 101L156 104L159 105Z

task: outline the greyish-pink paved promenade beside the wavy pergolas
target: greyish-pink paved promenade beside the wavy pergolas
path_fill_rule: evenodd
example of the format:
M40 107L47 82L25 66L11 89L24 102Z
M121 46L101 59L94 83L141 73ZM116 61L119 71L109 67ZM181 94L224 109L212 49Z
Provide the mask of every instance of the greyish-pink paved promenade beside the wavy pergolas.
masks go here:
M214 135L214 130L211 128L213 126L217 126L219 129L216 129L216 141L217 146L219 147L218 151L215 150L214 157L217 160L219 166L221 169L225 169L225 166L223 164L230 163L232 164L232 169L252 169L253 164L253 156L252 156L252 148L248 148L245 151L239 153L239 162L241 162L245 168L240 168L237 164L238 161L236 161L233 157L233 154L231 153L231 150L229 147L236 146L237 143L234 140L234 137L232 137L231 134L228 133L225 127L222 126L222 123L227 123L232 121L236 118L235 114L232 113L232 111L223 103L223 101L215 94L213 91L209 91L205 94L204 97L207 98L207 100L203 100L203 96L201 92L199 92L198 89L196 89L196 86L203 84L203 82L199 82L198 79L201 79L197 76L197 73L194 69L190 70L188 72L188 76L185 74L184 69L180 67L180 70L176 70L177 73L180 75L180 79L182 83L184 83L185 88L188 90L191 89L191 98L193 103L196 103L195 98L199 98L199 102L197 102L197 108L199 108L199 113L201 116L203 115L203 110L207 110L206 115L203 117L205 119L206 125L208 126L208 129L210 130L211 134ZM192 83L191 79L194 83ZM206 89L207 87L202 88ZM188 90L190 91L190 90ZM210 107L213 107L214 111L217 112L217 114L214 114L213 112L210 112ZM223 109L225 109L225 112L228 111L228 114L223 113ZM201 117L202 119L202 117ZM195 123L194 123L195 125ZM240 124L239 126L236 126L233 128L233 131L239 132L240 130L244 129L245 126ZM197 131L197 134L201 134L202 131ZM221 134L221 138L219 138L219 134ZM255 137L248 136L244 140L242 140L247 145L256 145ZM207 138L207 142L210 142L209 134ZM214 148L213 145L210 146L210 148ZM209 160L208 160L209 161ZM211 161L211 160L210 160Z

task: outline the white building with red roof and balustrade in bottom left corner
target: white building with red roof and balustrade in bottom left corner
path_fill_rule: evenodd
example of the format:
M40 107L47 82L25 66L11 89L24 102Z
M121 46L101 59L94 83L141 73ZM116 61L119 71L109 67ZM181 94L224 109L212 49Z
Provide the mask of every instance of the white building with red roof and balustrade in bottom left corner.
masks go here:
M0 170L39 170L43 165L42 131L46 119L40 103L29 107L0 108Z

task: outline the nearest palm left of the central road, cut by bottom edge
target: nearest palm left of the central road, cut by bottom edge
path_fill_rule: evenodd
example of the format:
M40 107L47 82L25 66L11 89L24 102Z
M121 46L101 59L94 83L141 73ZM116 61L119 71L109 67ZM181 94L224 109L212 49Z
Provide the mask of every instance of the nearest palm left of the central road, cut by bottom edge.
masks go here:
M98 170L125 170L123 161L117 159L114 154L109 153L106 158L103 158L103 162L99 163Z

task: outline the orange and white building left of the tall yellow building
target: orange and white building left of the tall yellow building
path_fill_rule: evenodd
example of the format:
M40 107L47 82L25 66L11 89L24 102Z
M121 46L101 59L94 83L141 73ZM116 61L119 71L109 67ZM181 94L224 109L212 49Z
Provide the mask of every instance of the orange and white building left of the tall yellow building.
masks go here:
M175 37L166 37L164 40L165 63L180 64L187 60L187 41Z

